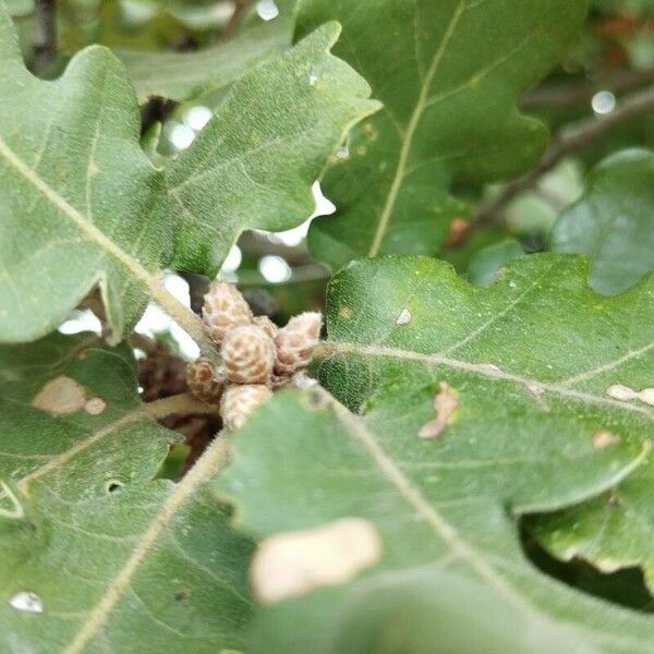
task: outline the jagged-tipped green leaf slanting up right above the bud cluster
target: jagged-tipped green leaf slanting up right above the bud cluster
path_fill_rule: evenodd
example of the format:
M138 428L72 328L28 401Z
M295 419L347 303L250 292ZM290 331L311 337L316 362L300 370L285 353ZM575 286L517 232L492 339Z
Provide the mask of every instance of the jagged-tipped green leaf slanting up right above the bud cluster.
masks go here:
M216 272L242 231L289 229L311 215L313 181L350 128L379 108L363 77L329 55L339 34L324 25L241 78L168 167L178 267Z

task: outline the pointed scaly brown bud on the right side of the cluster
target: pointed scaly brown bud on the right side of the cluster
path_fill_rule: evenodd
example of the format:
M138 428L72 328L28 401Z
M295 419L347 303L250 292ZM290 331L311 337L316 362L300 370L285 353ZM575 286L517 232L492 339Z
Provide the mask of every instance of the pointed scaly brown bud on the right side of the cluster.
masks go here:
M291 318L275 337L277 358L275 374L290 376L305 368L320 338L323 316L319 313L303 313Z

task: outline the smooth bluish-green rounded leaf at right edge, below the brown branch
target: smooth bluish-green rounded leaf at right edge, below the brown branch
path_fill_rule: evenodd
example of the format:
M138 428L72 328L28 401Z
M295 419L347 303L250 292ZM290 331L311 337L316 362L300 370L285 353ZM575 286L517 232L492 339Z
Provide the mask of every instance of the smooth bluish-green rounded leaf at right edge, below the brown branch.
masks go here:
M623 150L598 164L584 196L562 213L552 250L591 259L589 283L614 295L654 269L654 153Z

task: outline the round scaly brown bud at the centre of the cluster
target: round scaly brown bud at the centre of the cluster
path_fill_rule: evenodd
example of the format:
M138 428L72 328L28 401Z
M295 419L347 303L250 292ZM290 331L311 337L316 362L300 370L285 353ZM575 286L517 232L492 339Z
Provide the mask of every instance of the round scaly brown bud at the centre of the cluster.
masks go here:
M220 351L227 378L233 384L268 384L275 363L275 343L255 325L227 334Z

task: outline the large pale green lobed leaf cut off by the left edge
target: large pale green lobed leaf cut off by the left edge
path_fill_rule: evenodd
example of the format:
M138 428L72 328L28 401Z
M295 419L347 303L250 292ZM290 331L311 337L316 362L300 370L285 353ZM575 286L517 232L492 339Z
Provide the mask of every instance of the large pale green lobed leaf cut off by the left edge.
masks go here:
M92 47L57 82L33 77L0 4L0 342L47 334L96 282L120 336L172 246L124 70Z

